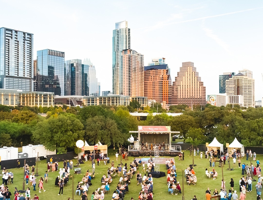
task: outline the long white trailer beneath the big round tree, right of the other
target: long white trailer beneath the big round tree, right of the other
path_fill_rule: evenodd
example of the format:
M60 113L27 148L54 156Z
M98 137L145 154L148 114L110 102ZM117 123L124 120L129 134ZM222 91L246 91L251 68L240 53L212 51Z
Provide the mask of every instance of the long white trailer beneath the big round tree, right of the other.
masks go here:
M28 153L28 158L37 157L37 153L38 153L38 157L43 156L44 158L46 158L47 155L56 154L56 151L48 151L47 149L45 149L43 144L38 144L38 145L28 144L27 146L22 147L22 151L23 153Z

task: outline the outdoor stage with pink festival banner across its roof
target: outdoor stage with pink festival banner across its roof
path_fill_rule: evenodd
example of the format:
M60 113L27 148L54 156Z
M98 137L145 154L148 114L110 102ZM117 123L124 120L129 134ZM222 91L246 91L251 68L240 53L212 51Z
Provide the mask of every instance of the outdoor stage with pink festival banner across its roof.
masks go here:
M134 137L134 144L128 146L129 156L154 156L155 146L159 148L160 156L175 157L181 152L181 146L171 145L171 133L180 132L171 131L170 126L138 126L138 131L130 133L137 133L138 137Z

